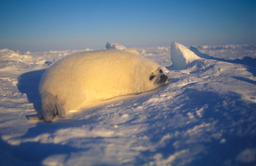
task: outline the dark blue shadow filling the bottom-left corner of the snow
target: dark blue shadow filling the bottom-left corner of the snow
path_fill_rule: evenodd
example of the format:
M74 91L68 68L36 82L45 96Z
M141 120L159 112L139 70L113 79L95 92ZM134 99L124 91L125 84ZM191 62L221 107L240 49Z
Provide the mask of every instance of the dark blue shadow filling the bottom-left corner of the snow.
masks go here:
M0 138L0 165L43 165L42 162L50 155L70 154L81 149L68 145L40 142L23 142L10 145ZM83 149L85 151L85 149ZM65 159L65 158L64 158Z

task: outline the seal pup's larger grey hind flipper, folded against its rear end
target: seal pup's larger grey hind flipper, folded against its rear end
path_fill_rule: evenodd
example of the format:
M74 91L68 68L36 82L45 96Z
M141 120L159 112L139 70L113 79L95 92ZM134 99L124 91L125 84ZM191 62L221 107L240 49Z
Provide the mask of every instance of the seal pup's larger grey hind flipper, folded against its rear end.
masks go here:
M55 122L59 118L66 117L65 109L60 105L52 93L45 92L41 98L42 116L46 122Z

